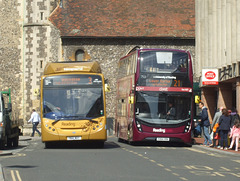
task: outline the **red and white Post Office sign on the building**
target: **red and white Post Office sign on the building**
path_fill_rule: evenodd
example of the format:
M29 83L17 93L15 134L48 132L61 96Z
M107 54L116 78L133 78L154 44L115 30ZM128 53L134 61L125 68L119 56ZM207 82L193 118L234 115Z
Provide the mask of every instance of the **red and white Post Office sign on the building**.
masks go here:
M218 69L202 69L203 85L218 85Z

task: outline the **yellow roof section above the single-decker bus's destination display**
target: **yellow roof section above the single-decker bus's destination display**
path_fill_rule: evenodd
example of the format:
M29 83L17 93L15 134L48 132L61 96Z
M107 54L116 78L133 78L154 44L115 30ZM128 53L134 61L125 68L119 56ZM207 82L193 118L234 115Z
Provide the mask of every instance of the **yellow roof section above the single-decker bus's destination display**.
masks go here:
M44 75L71 72L101 73L101 68L97 61L93 62L81 61L81 62L51 62L48 63L44 69Z

